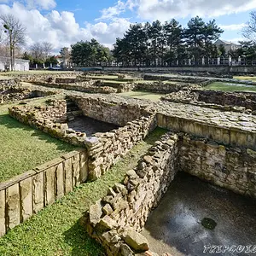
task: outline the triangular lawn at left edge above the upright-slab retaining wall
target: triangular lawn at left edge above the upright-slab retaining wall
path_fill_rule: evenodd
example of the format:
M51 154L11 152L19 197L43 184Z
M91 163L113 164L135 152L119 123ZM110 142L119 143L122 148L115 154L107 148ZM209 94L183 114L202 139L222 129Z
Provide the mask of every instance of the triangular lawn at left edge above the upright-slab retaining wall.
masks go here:
M73 145L49 137L43 131L21 124L9 116L8 105L0 106L0 182L74 148Z

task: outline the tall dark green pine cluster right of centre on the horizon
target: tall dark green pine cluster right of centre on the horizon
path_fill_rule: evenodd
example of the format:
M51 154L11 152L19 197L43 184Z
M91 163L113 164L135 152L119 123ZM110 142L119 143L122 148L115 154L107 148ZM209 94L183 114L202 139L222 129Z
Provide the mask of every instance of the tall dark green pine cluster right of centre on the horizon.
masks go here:
M175 19L164 24L159 20L137 23L130 26L123 38L117 38L113 56L123 65L164 65L184 59L197 62L202 56L218 55L213 42L222 32L215 20L205 22L198 16L189 20L187 27Z

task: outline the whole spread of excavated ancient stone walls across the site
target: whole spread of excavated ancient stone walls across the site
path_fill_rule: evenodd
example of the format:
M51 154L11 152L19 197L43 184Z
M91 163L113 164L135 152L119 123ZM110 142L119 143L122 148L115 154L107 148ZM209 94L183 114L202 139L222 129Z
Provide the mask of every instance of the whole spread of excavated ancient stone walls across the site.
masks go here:
M161 77L157 82L148 77L145 83L120 75L109 83L84 74L21 79L40 86L44 96L53 88L62 95L41 104L11 106L9 115L79 149L1 183L0 227L9 230L80 183L96 181L156 127L168 131L126 173L122 183L108 188L84 213L84 229L108 255L157 255L149 251L150 244L140 232L177 172L256 198L253 93L204 90L209 82L205 78L175 78L170 83L160 81ZM151 102L119 95L131 90L163 96ZM25 98L29 96L16 100ZM84 128L90 121L96 129Z

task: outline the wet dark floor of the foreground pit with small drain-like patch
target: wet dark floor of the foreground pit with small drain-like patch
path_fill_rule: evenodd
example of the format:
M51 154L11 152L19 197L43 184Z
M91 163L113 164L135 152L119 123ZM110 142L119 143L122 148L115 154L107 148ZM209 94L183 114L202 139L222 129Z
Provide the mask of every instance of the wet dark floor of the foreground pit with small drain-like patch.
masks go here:
M255 210L256 201L252 199L178 172L159 207L151 212L142 234L159 255L211 255L203 253L204 246L255 243ZM216 221L214 230L201 224L206 216Z

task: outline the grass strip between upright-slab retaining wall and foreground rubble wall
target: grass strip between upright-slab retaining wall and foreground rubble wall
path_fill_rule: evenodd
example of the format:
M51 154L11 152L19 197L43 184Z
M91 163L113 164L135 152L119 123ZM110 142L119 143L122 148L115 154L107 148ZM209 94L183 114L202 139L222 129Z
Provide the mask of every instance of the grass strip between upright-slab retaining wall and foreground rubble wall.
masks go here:
M24 224L0 238L1 256L99 256L102 247L90 239L79 219L90 205L107 193L109 186L119 183L156 140L166 133L157 128L144 142L138 143L101 179L84 183Z

